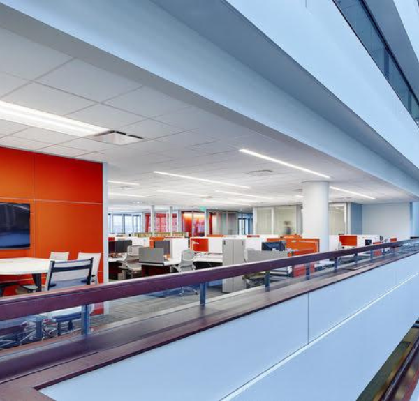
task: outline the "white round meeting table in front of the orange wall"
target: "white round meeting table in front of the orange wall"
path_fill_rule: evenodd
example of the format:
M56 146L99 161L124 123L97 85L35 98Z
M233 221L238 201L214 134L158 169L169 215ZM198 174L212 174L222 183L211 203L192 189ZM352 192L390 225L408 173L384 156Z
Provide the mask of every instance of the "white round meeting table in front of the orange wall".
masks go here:
M0 275L25 275L31 274L34 283L42 289L42 275L50 270L50 259L40 259L38 257L14 257L10 259L0 259Z

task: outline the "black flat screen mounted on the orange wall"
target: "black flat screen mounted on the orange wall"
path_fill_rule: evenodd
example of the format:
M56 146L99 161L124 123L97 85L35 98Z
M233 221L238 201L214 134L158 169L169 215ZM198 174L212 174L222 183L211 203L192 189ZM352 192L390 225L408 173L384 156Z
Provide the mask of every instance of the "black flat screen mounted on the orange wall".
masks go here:
M31 206L0 202L0 250L31 247Z

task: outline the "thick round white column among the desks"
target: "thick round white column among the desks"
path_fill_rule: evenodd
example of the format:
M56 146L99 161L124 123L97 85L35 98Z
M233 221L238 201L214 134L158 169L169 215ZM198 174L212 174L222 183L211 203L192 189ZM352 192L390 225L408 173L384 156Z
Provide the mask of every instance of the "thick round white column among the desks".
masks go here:
M320 252L329 250L329 183L302 183L302 233L320 239Z

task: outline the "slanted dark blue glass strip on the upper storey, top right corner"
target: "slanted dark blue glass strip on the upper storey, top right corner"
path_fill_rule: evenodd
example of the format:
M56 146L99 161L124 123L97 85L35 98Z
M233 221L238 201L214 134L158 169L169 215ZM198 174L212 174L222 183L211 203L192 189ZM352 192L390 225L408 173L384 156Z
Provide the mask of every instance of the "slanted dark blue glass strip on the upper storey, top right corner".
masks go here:
M362 0L333 0L381 73L419 125L419 103Z

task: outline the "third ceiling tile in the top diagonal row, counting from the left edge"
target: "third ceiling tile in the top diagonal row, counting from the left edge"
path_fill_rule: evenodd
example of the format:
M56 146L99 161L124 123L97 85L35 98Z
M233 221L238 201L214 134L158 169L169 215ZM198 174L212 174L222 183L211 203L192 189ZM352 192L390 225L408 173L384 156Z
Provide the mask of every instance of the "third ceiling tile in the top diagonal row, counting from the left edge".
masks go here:
M117 96L106 102L108 105L124 109L141 116L154 117L189 107L186 103L171 98L148 86Z

